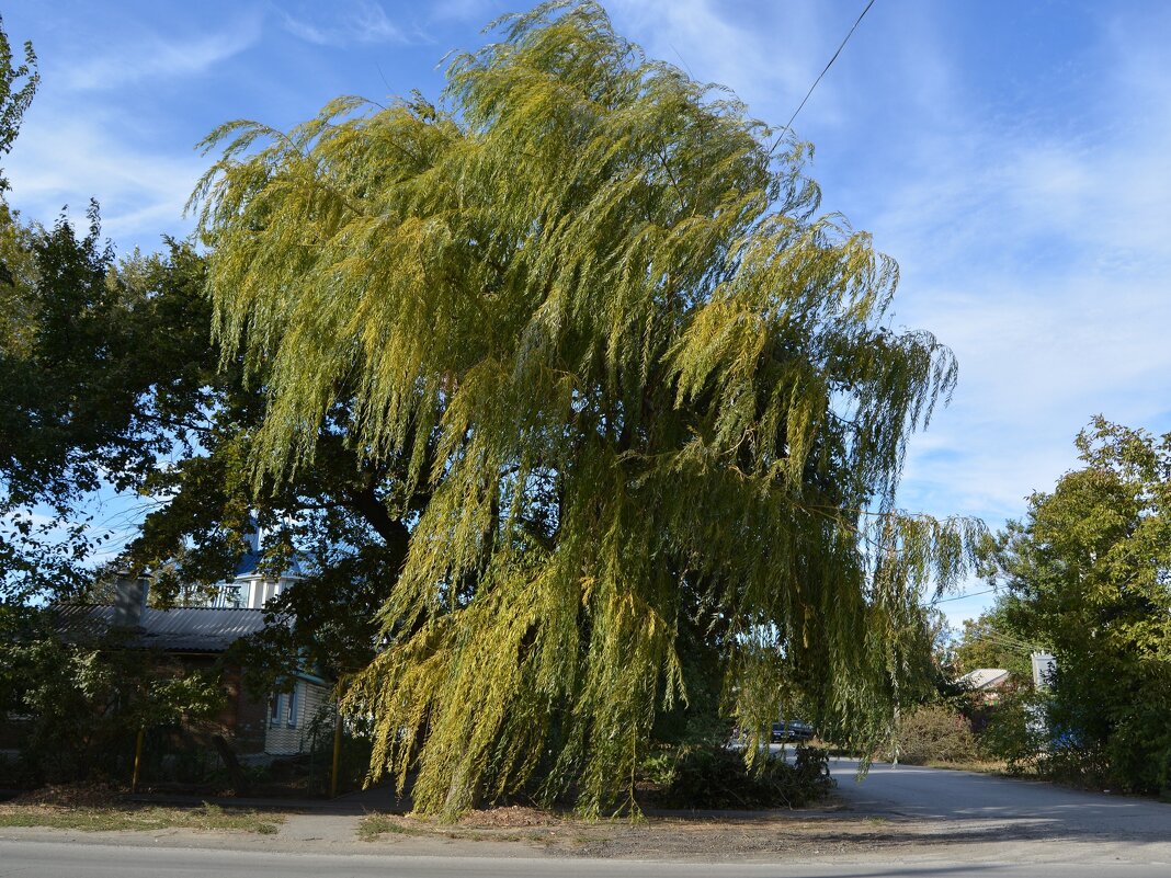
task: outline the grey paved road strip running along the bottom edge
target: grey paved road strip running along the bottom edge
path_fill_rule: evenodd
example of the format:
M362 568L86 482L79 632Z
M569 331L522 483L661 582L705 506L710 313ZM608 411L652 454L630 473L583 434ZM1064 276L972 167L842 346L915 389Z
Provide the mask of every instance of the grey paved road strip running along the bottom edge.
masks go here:
M5 842L0 876L20 878L1166 878L1166 864L1013 863L631 863L589 859L487 859L258 853L183 848Z

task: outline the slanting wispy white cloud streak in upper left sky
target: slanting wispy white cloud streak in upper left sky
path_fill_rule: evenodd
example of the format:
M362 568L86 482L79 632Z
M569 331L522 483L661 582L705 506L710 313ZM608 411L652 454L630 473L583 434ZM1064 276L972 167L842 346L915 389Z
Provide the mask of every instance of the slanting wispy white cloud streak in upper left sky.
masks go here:
M217 33L184 39L151 34L133 44L121 44L107 54L63 71L67 88L116 89L129 83L201 74L244 52L260 36L260 19L237 20Z

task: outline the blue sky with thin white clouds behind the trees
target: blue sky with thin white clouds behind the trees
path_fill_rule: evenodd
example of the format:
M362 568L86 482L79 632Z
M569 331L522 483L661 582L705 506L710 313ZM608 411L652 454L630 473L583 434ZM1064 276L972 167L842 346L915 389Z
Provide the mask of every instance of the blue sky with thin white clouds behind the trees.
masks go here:
M783 124L863 0L612 0L618 30ZM232 118L287 128L340 94L441 88L515 1L8 0L42 87L5 162L50 221L90 197L121 252L183 206ZM999 527L1076 464L1095 413L1171 430L1171 5L877 0L794 125L812 174L902 267L896 324L956 351L902 506ZM981 591L980 583L966 587ZM989 596L941 604L953 620Z

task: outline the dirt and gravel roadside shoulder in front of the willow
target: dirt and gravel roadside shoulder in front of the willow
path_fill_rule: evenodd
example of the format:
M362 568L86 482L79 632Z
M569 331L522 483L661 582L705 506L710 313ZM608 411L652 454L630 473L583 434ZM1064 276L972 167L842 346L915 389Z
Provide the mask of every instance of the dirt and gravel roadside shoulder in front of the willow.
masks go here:
M918 776L918 775L916 775ZM142 800L153 797L143 796ZM118 808L108 790L55 789L9 808ZM163 802L156 802L162 804ZM192 798L176 808L198 809ZM650 811L642 819L582 821L570 814L513 805L474 811L458 823L409 817L406 802L371 790L333 802L231 802L225 812L256 809L280 815L269 835L176 822L150 830L80 832L46 825L0 826L5 841L55 841L118 846L261 850L386 857L605 858L682 863L1171 862L1171 836L1086 832L1046 817L913 816L876 812L835 795L816 808L773 811ZM1117 809L1114 800L1105 804ZM1125 803L1122 803L1125 804ZM1104 807L1104 805L1103 805ZM994 810L994 809L993 809ZM1156 834L1158 835L1158 834Z

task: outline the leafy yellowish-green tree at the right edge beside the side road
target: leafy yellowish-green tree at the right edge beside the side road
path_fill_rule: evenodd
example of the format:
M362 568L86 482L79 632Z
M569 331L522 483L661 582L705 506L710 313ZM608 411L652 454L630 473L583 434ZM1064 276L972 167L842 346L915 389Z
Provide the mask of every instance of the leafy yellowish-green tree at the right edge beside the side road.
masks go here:
M1008 624L1052 645L1052 736L1112 786L1171 786L1171 433L1096 418L1084 466L1000 535Z

